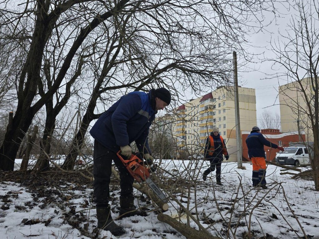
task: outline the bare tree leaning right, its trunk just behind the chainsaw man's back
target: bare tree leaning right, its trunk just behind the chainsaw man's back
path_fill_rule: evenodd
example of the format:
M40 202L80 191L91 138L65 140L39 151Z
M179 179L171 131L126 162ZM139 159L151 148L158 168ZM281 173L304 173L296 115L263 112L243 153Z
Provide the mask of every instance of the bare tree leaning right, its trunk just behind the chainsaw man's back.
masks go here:
M105 34L109 39L106 48L99 48L103 56L92 55L94 64L91 67L97 80L64 169L72 169L90 122L100 116L94 113L96 105L100 101L110 104L118 99L113 92L122 96L130 90L147 91L151 87L165 86L178 96L177 84L182 90L191 88L199 93L212 84L229 83L231 69L220 60L230 49L230 42L240 45L238 40L243 35L232 32L240 23L233 17L212 23L197 4L180 6L181 14L175 5L166 2L153 6L139 2L136 9L118 14L113 22L105 23L114 30ZM237 8L232 4L230 7ZM208 10L222 18L227 15L223 11L219 7ZM178 23L177 16L182 19ZM189 16L202 18L203 22L200 24ZM220 29L219 25L225 28ZM95 42L92 48L98 46Z

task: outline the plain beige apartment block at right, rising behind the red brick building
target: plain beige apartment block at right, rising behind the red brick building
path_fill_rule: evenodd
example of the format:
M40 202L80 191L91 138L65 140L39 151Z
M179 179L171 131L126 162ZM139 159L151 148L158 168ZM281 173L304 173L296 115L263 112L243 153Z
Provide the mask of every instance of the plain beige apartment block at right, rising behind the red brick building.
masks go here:
M281 130L284 133L297 131L299 134L306 135L306 141L313 141L308 107L303 93L303 91L306 92L307 98L312 104L313 89L311 87L311 79L309 77L304 78L300 80L300 83L294 81L278 88Z

